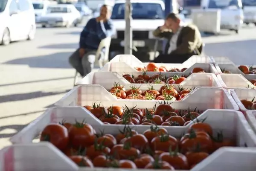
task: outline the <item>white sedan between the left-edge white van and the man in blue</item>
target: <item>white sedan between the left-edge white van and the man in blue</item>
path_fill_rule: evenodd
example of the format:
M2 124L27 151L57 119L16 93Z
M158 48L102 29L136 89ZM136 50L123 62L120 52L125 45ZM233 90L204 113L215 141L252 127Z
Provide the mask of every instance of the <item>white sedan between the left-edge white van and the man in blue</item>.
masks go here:
M51 5L47 13L40 18L42 27L48 26L77 26L81 21L80 12L72 4Z

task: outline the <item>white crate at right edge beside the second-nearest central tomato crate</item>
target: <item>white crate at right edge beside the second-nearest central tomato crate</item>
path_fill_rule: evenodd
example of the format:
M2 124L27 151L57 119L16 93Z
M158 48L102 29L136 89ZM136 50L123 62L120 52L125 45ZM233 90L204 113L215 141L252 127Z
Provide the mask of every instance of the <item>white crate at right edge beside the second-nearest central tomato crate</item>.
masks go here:
M247 99L251 101L254 98L254 101L256 101L256 89L233 89L230 90L230 92L231 96L236 101L236 104L238 104L241 111L249 111L241 103L241 99Z

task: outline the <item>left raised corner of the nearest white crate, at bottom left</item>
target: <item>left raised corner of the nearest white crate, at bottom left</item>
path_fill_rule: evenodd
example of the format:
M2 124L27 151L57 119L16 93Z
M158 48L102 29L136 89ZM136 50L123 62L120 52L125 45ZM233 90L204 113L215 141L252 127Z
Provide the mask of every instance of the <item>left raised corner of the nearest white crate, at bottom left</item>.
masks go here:
M79 167L49 142L16 144L0 151L0 171L77 171Z

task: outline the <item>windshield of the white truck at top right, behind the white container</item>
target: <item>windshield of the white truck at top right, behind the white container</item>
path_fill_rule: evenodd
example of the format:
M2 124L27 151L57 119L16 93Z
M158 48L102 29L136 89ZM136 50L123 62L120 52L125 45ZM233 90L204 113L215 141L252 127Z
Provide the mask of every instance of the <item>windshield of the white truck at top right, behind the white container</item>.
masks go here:
M227 9L231 7L241 8L238 0L209 0L208 8L210 9Z

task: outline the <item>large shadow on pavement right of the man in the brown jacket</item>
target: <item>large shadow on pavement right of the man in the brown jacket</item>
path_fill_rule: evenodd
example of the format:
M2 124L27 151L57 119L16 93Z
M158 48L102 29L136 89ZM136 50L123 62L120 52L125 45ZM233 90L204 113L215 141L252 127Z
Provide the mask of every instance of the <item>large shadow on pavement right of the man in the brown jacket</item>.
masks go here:
M206 43L205 53L208 56L225 56L235 64L253 65L256 64L255 49L256 40ZM225 47L225 49L223 49Z

